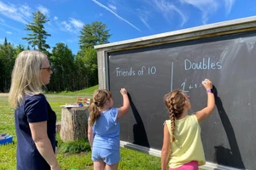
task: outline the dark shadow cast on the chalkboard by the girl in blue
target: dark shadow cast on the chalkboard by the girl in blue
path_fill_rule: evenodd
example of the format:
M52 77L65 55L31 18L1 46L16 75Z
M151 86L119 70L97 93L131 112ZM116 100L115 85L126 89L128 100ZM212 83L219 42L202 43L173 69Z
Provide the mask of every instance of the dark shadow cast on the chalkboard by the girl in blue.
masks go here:
M143 124L143 119L138 113L137 108L133 104L130 94L128 94L128 98L130 100L131 111L137 122L136 124L133 125L133 136L134 136L133 144L138 144L138 145L150 148L148 144L148 136Z

